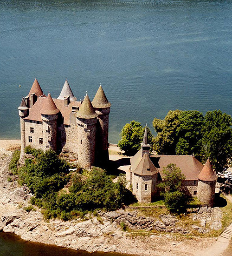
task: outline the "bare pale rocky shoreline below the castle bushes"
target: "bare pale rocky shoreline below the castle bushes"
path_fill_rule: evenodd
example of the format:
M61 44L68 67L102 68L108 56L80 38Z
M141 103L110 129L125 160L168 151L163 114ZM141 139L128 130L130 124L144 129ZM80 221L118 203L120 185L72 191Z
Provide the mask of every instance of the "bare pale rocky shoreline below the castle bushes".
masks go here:
M118 223L111 222L109 217L104 215L101 215L100 222L97 217L85 221L64 222L52 219L48 222L36 207L35 211L27 213L24 207L28 206L32 194L26 187L18 187L16 181L7 182L8 163L12 152L6 148L17 146L13 142L20 141L9 140L9 144L7 141L0 141L0 230L4 232L14 233L26 241L58 245L68 249L138 256L196 256L216 241L215 238L200 237L192 240L180 239L167 233L131 236L122 231ZM117 214L120 211L122 210L111 213Z

